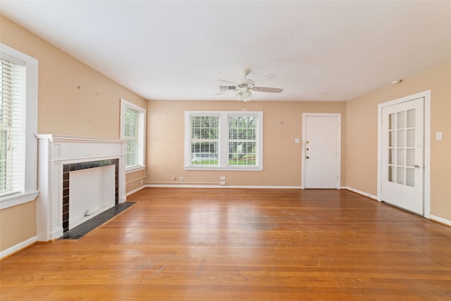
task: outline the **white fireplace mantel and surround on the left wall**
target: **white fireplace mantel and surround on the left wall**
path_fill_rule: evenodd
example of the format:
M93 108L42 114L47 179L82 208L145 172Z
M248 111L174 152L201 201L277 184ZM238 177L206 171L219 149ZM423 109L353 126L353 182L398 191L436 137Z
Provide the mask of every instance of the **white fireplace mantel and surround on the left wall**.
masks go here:
M63 235L64 164L119 159L118 202L125 202L125 140L51 134L37 135L37 140L38 241L51 241Z

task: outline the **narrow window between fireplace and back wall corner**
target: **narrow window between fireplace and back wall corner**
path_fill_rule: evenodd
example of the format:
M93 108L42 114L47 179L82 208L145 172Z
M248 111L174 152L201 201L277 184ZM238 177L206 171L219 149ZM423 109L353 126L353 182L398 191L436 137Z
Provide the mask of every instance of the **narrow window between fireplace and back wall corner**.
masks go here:
M144 168L144 118L145 109L121 99L121 139L125 145L125 170Z

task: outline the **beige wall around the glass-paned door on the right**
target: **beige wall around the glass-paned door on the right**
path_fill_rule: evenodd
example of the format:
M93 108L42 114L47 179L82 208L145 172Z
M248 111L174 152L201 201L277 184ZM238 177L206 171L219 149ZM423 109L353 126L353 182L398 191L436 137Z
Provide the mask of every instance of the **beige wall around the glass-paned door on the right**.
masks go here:
M431 90L431 214L451 221L451 62L347 102L347 186L377 194L378 104ZM435 140L435 132L443 140Z

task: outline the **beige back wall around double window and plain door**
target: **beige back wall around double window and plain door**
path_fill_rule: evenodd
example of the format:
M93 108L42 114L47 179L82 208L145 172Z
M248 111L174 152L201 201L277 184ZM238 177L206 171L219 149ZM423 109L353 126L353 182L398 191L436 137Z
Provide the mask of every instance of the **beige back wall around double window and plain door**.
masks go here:
M263 111L263 171L185 171L185 111L241 111L242 102L163 102L147 104L147 183L159 185L300 186L302 113L342 114L342 185L345 180L346 104L344 102L247 102L247 111ZM180 183L180 177L184 183ZM174 180L175 179L175 180Z

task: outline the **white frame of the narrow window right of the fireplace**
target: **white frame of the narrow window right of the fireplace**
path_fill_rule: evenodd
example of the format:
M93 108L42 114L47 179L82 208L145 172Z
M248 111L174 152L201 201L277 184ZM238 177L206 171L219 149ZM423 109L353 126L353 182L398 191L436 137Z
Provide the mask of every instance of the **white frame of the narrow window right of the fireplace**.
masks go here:
M138 164L135 166L125 166L125 173L134 173L136 171L144 170L145 166L145 157L144 157L144 149L145 149L145 130L146 130L146 109L141 106L137 106L132 102L128 102L127 100L121 98L121 139L125 140L125 109L132 109L137 111L140 116L142 116L142 128L140 130L140 137L138 142L138 152L137 152L137 161ZM125 154L126 156L126 154ZM125 162L126 163L126 162Z

